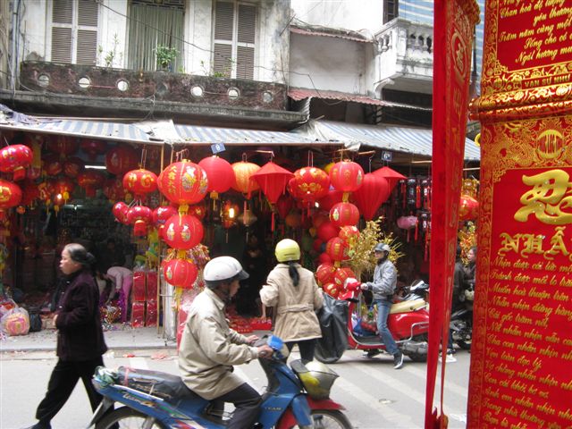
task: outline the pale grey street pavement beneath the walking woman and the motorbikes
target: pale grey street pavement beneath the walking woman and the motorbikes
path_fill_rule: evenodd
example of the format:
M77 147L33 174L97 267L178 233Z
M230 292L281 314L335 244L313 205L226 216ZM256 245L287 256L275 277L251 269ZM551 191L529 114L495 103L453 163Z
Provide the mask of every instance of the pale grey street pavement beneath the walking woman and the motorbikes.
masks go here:
M3 429L19 429L34 422L35 409L45 394L55 366L55 333L31 335L36 337L0 341L0 427ZM106 366L131 366L178 374L176 345L165 340L156 328L108 331L105 341L110 347L104 357ZM290 358L298 357L294 349ZM465 427L467 420L470 354L458 350L455 357L457 361L446 366L444 396L451 429ZM340 374L332 388L332 399L346 408L345 413L356 429L424 427L425 364L411 362L408 358L405 362L402 369L394 370L388 355L366 359L361 351L348 350L338 363L330 366ZM236 366L235 370L259 391L264 391L265 374L257 362ZM439 398L440 393L436 391L435 399ZM438 402L435 406L439 406ZM70 400L55 416L53 427L85 427L90 414L83 385L79 383Z

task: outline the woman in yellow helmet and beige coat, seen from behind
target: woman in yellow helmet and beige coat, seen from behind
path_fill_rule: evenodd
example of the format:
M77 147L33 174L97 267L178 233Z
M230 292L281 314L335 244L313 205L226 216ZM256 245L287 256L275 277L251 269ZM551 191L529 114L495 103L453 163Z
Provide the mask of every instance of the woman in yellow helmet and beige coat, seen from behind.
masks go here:
M275 307L274 334L282 338L289 350L298 343L300 356L314 359L315 340L322 337L315 311L324 298L314 273L299 265L300 248L296 241L281 240L274 250L278 264L268 274L260 290L266 307Z

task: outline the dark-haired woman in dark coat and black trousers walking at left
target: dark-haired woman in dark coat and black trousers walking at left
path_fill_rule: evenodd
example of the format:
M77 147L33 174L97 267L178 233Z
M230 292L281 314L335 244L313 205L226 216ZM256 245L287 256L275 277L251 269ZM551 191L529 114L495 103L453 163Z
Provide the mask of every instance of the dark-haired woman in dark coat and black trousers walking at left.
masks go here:
M99 315L99 290L91 272L94 263L95 257L80 244L63 248L60 269L64 287L59 292L54 316L58 361L47 384L46 397L36 411L38 423L30 428L51 428L50 421L80 379L91 408L95 410L101 401L91 384L96 367L104 365L102 355L107 350Z

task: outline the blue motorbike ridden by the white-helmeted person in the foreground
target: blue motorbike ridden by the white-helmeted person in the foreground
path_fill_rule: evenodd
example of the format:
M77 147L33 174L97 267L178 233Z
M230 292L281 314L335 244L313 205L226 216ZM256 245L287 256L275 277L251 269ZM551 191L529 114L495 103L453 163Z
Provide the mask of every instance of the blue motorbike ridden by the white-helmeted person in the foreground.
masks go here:
M269 359L259 359L268 385L260 406L257 429L333 427L351 429L340 404L330 399L338 374L318 362L294 360L288 366L288 349L282 340L265 336L273 350ZM93 378L104 399L88 428L179 428L219 429L226 426L228 413L220 401L204 400L181 381L181 377L156 371L120 366L116 371L99 366ZM114 404L122 404L113 409Z

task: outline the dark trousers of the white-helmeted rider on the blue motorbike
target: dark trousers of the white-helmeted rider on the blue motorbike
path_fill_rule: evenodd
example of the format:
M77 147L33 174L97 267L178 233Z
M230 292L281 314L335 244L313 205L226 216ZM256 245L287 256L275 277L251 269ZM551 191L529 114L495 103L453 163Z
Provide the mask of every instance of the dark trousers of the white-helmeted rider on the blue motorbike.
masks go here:
M248 429L257 423L262 397L248 383L240 384L216 400L234 404L235 410L226 426L227 429Z

